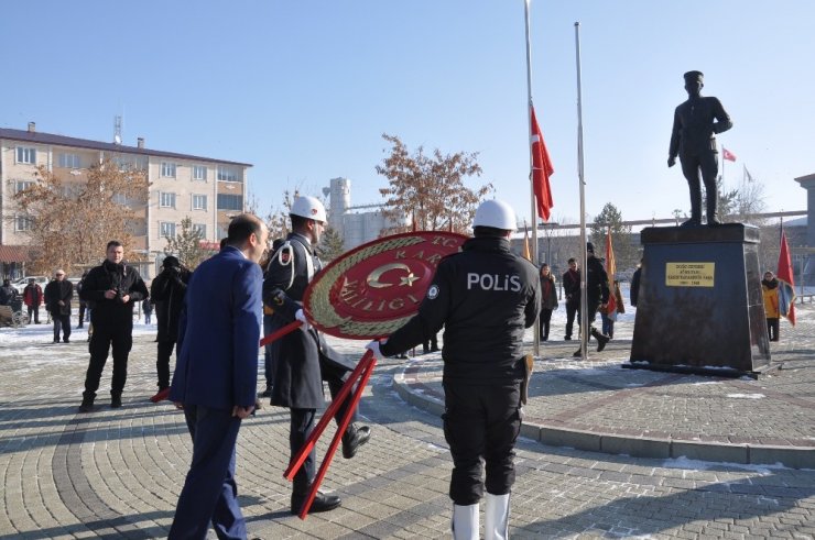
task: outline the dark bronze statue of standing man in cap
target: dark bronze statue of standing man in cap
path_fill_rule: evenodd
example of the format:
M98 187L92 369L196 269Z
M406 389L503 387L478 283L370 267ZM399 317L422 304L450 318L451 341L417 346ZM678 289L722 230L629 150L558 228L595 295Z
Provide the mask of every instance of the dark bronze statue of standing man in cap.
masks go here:
M717 98L700 96L702 71L687 71L685 75L687 101L674 112L674 128L671 132L667 166L673 167L680 156L682 174L691 187L691 219L683 227L702 224L702 181L707 195L707 224L718 225L716 214L716 177L719 174L716 135L732 128L732 122Z

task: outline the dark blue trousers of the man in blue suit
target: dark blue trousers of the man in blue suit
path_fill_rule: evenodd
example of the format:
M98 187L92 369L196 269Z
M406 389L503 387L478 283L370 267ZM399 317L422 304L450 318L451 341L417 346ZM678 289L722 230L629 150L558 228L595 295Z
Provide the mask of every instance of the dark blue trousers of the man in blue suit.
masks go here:
M193 462L175 507L171 540L204 539L209 524L220 539L246 539L235 483L235 442L240 418L231 410L185 405Z

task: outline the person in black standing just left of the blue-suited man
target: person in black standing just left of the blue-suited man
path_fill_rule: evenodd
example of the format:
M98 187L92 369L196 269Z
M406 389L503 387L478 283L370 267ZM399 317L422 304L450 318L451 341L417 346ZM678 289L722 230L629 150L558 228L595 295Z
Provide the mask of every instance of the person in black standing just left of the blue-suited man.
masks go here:
M169 394L170 356L178 339L178 317L192 276L192 272L182 266L178 257L173 255L164 258L162 268L150 286L150 299L155 304L155 321L159 328L155 339L159 342L155 361L159 392L150 398L153 403L166 399Z

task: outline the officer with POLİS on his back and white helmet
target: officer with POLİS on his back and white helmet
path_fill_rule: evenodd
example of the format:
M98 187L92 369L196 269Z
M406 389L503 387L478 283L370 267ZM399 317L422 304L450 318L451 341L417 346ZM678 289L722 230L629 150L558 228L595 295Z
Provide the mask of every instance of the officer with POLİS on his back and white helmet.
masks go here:
M514 444L521 429L524 329L541 306L537 269L510 252L515 216L488 200L472 222L475 238L442 260L419 313L382 342L378 357L415 346L444 327L444 433L453 456L453 535L478 538L478 505L487 487L485 537L507 538ZM487 478L481 477L481 460Z

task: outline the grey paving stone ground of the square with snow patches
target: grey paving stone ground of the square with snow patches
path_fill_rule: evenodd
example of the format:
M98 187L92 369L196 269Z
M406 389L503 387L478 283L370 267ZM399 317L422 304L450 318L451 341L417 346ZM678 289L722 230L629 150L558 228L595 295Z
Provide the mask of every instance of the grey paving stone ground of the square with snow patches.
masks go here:
M728 448L748 439L806 450L815 438L812 316L804 305L795 329L782 326L773 357L784 368L758 381L620 370L630 346L620 323L607 352L587 362L570 359L573 344L546 343L526 420L629 441L669 436ZM57 345L43 326L0 332L21 332L0 339L0 540L165 537L192 445L182 415L148 401L153 334L137 332L124 406L108 408L100 392L98 410L77 415L83 331ZM359 343L337 344L361 352ZM438 355L377 366L360 404L373 437L354 460L338 456L324 482L343 506L306 520L289 514L286 411L265 405L247 420L237 481L250 537L449 538L450 459L431 412L439 367ZM109 381L107 366L102 388ZM326 448L322 441L319 459ZM512 538L815 538L815 470L605 450L522 438Z

